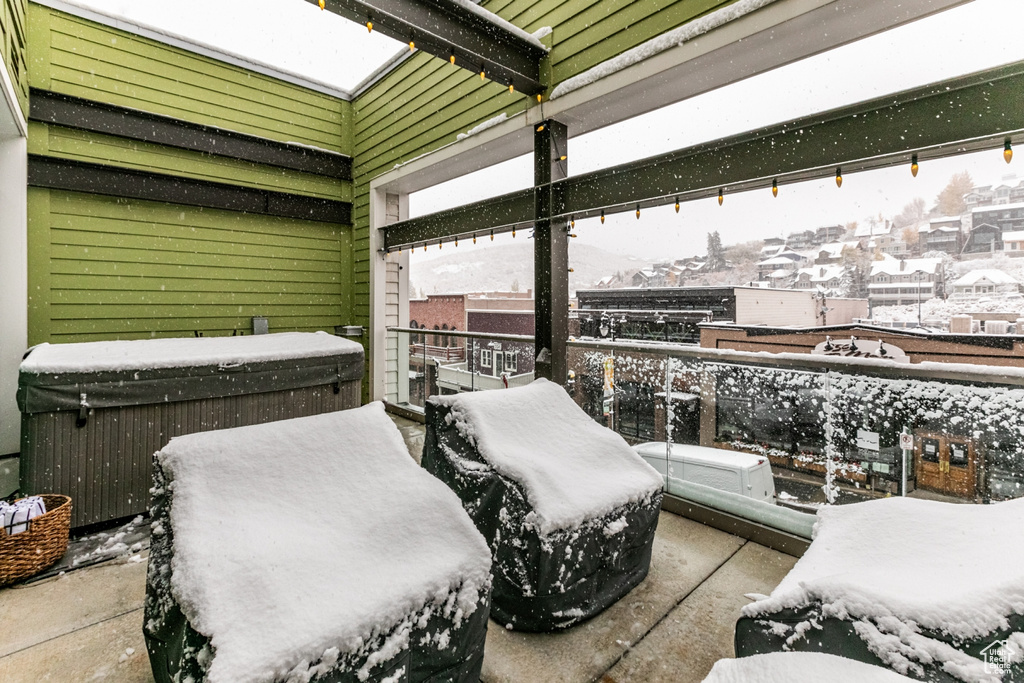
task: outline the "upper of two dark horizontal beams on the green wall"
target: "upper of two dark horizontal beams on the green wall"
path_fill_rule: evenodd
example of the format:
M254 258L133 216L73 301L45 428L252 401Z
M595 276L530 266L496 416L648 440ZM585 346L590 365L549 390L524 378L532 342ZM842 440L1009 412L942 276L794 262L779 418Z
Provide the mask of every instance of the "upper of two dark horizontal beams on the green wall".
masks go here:
M49 90L32 89L29 120L342 180L352 179L352 159L328 150L279 142Z

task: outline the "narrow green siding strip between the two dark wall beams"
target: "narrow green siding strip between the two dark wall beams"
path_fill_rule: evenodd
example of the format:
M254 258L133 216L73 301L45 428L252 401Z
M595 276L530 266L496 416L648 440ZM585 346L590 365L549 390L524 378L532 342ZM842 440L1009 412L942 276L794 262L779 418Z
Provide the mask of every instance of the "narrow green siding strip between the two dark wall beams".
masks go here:
M348 180L35 121L29 124L29 153L342 202L352 200Z

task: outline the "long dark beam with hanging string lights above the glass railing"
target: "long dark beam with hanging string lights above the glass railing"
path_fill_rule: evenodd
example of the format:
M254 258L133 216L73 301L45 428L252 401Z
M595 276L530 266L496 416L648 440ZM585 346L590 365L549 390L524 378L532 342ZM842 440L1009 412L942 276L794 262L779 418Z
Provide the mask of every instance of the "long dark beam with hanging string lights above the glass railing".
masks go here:
M554 214L587 218L1024 142L1024 62L887 95L552 183ZM528 191L528 190L527 190ZM385 248L525 226L522 191L385 228ZM515 211L510 211L515 207ZM392 238L393 236L393 238Z

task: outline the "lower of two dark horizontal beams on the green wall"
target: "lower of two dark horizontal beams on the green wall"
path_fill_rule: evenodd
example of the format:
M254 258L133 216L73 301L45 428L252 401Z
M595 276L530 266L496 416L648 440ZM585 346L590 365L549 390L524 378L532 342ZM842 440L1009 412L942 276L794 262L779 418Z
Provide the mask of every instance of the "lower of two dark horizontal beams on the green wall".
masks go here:
M208 209L297 218L325 223L352 222L348 202L181 178L162 173L29 155L29 186L110 197L183 204Z

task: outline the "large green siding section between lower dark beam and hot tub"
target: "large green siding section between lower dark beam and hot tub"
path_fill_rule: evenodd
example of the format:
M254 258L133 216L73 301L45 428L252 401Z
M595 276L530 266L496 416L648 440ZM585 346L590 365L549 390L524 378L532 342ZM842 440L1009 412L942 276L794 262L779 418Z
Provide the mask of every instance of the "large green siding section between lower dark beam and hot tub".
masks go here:
M29 204L30 344L350 322L347 226L35 187Z

